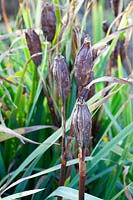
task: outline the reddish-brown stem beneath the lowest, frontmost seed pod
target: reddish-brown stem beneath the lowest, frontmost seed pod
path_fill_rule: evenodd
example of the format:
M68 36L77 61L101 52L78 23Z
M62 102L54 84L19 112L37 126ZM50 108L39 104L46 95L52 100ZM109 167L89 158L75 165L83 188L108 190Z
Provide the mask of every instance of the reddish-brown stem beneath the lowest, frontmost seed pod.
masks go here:
M79 147L79 200L84 200L85 196L85 149Z

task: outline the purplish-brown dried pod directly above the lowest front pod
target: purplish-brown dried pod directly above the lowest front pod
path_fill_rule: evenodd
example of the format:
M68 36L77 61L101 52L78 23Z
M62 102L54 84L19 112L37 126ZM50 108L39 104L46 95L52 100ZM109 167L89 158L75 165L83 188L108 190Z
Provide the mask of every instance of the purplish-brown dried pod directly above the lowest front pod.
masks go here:
M88 83L90 71L93 67L93 50L90 41L86 38L81 46L77 58L75 77L78 87L84 87Z

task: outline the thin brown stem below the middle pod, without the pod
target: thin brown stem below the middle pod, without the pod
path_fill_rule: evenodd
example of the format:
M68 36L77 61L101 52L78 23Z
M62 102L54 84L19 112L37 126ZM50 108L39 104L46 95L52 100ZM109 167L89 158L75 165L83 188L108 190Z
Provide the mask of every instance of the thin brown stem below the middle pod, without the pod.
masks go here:
M67 161L67 153L66 153L66 139L65 139L65 132L66 132L66 119L65 119L65 100L62 100L62 159L61 159L61 172L60 172L60 180L59 186L64 185L65 182L65 169L66 169L66 161ZM58 197L58 200L61 200L62 197Z

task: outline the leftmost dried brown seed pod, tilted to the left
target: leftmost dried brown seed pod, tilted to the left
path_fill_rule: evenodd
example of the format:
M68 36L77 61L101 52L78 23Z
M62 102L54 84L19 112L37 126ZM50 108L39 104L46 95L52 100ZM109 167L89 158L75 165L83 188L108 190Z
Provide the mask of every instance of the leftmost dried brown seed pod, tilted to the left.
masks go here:
M25 33L25 38L31 56L37 53L42 53L40 38L33 29L29 29ZM36 55L32 60L36 66L39 66L42 62L42 55Z

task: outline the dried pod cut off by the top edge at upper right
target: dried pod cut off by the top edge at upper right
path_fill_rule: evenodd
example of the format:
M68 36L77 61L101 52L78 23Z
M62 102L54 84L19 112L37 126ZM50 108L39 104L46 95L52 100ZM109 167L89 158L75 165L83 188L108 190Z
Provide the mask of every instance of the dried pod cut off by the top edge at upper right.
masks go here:
M115 17L117 17L122 11L123 1L121 0L111 0L112 9L114 11Z

